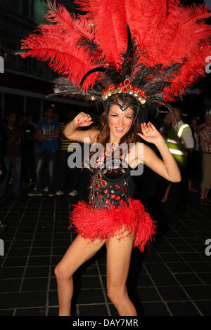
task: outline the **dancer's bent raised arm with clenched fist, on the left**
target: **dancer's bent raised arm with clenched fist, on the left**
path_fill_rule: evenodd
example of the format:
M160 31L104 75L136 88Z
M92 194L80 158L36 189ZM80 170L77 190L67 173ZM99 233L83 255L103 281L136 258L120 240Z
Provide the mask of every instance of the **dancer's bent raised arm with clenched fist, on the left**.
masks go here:
M87 131L79 131L77 128L79 127L87 127L91 125L94 121L91 121L91 117L89 114L85 114L84 112L79 112L77 116L68 123L64 130L63 134L66 138L74 141L78 141L84 143L84 138L89 138L90 143L96 142L96 136L100 133L96 129L89 129Z

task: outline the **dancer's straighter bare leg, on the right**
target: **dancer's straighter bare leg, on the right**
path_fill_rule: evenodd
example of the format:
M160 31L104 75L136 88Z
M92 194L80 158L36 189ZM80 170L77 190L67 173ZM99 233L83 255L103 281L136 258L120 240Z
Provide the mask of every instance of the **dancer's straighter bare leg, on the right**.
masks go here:
M106 242L108 298L121 316L137 315L126 287L133 244L134 237L125 237L120 241L113 237Z

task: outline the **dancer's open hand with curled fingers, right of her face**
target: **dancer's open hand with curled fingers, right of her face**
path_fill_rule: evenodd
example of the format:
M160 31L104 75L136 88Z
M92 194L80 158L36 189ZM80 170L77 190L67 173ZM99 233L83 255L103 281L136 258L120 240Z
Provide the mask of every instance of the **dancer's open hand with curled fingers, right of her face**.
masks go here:
M161 141L164 141L162 138L162 135L158 132L158 130L155 128L155 126L148 121L148 124L143 123L141 124L141 133L136 133L140 138L143 138L146 142L154 143L157 145Z

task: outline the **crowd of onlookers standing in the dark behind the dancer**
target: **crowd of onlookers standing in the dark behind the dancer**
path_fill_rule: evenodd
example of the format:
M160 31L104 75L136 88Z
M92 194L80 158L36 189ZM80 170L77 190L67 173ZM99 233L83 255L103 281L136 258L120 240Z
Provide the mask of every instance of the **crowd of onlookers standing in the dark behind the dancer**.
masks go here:
M154 124L179 165L181 183L169 183L144 169L141 176L131 180L129 193L145 202L172 199L175 211L185 213L188 191L198 192L198 202L203 206L211 201L211 111L205 113L205 121L200 124L194 116L184 119L179 107L174 107L174 112L177 123L169 113L160 124ZM89 172L68 166L68 157L79 145L63 136L65 124L76 114L69 110L61 118L52 106L34 124L30 114L18 117L15 111L8 112L0 126L0 197L22 197L24 188L30 187L30 192L25 192L29 196L70 194L89 200ZM97 125L96 120L93 126Z

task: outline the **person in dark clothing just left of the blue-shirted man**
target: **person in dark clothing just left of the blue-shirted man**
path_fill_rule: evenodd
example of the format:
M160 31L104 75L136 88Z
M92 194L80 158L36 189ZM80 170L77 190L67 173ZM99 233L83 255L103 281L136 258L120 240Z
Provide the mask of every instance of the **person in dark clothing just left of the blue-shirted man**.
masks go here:
M25 143L22 150L22 180L23 183L30 184L36 182L34 165L34 133L35 126L29 123L29 116L22 117L22 129L25 135Z

